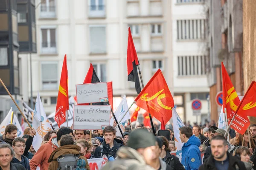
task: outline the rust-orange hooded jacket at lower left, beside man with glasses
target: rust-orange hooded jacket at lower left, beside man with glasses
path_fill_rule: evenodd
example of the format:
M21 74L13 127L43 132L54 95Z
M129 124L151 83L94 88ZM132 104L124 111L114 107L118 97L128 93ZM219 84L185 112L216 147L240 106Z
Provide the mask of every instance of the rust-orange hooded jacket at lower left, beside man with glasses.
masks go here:
M48 159L52 152L58 148L56 144L58 144L56 136L53 136L46 144L43 144L41 147L39 147L38 151L29 162L30 169L36 170L36 167L40 165L40 170L48 170Z

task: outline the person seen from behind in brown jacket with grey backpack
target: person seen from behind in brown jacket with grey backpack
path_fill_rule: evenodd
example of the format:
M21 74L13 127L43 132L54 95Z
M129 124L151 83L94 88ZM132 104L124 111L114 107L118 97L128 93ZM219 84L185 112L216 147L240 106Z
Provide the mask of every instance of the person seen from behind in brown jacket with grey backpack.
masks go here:
M90 170L87 159L80 155L81 148L74 144L72 136L61 136L60 144L61 147L49 157L48 170Z

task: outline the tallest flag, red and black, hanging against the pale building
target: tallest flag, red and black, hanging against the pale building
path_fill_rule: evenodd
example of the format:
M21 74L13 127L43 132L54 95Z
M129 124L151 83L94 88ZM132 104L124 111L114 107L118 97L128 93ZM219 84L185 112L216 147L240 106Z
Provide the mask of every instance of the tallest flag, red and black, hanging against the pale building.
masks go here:
M127 72L128 81L135 82L135 90L140 94L140 80L136 65L139 65L139 60L134 47L134 42L131 36L131 29L128 29L128 47L127 47Z

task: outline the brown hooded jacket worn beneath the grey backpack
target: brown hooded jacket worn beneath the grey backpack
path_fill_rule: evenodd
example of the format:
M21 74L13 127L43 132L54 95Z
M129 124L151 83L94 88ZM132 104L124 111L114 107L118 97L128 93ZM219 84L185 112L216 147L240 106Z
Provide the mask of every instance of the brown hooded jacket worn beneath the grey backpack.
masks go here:
M65 154L74 154L74 155L78 155L80 153L81 148L77 145L74 144L67 144L64 146L61 146L59 148L57 148L56 150L54 150L51 154L51 156L49 157L48 162L49 164L49 168L48 170L57 170L58 169L58 157L61 155L65 155ZM79 159L84 159L86 162L86 169L90 170L89 167L89 163L87 161L87 159L84 156L79 156Z

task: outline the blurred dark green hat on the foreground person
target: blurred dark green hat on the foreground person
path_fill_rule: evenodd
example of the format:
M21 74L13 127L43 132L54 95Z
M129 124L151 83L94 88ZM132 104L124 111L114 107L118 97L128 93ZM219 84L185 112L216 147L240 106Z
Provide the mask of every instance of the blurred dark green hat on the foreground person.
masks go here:
M127 143L128 147L135 150L156 145L154 136L145 129L135 129L130 133L130 139Z

